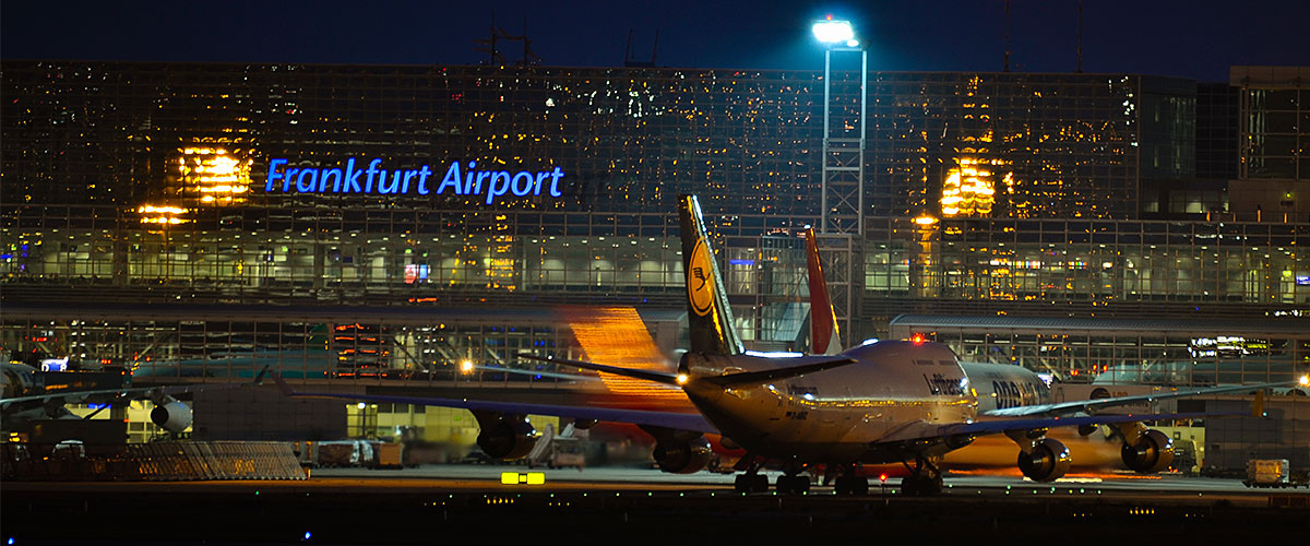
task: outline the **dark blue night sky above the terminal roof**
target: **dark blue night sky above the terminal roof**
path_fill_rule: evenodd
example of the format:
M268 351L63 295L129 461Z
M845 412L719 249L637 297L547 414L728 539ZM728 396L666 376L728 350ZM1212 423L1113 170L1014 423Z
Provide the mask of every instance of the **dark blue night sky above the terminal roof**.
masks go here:
M1229 65L1310 64L1302 0L1083 0L1083 71L1227 81ZM0 56L479 64L493 17L545 65L633 58L693 68L819 69L810 25L857 25L871 71L1001 71L1003 0L950 1L30 1L0 4ZM1077 68L1077 0L1013 0L1011 71ZM521 42L503 47L510 63Z

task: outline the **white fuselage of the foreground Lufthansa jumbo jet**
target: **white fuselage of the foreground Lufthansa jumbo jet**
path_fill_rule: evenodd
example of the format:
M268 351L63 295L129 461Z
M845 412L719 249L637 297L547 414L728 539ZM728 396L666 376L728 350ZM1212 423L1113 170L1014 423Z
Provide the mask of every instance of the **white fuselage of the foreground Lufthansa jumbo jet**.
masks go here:
M977 414L977 397L946 346L879 342L838 356L855 363L743 388L698 388L693 381L686 393L724 436L751 453L808 462L900 460L895 446L878 448L899 428L965 423ZM777 359L688 356L688 369L698 377L777 365ZM929 450L941 454L958 446L943 443Z

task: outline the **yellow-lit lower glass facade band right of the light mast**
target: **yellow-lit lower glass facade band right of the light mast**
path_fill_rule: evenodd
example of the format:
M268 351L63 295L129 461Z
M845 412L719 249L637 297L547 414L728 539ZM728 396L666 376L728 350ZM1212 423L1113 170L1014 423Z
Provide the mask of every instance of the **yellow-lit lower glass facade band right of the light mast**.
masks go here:
M943 220L924 227L879 220L870 221L866 238L869 296L927 299L948 314L948 305L977 300L989 301L980 310L1000 308L997 302L1017 304L1003 309L1056 308L1041 314L1114 313L1146 304L1252 316L1250 309L1310 304L1310 262L1300 251L1310 242L1306 225ZM1138 313L1121 314L1151 314Z

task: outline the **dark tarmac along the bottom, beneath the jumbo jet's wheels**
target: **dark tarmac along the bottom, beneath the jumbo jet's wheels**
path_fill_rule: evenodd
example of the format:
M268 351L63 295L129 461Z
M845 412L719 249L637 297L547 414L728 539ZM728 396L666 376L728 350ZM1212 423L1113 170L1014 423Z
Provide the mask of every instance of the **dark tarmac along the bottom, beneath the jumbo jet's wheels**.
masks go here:
M502 483L510 473L512 484ZM544 483L527 484L529 473ZM1250 542L1305 536L1310 490L1132 474L947 477L942 495L732 491L732 475L431 465L307 481L9 482L4 538L63 543L707 543L821 539Z

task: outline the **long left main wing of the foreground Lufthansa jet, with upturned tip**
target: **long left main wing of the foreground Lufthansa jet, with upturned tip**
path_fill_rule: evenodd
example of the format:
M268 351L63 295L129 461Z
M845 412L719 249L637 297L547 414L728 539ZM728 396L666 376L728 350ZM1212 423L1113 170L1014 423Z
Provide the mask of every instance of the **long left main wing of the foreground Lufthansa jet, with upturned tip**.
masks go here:
M359 402L390 402L411 403L417 406L458 407L476 411L496 411L502 414L519 415L553 415L572 419L593 419L617 423L646 424L654 427L675 428L692 432L719 433L719 429L710 424L701 414L683 414L676 411L627 410L617 407L588 407L588 406L557 406L549 403L521 403L521 402L493 402L476 401L468 398L428 398L428 397L396 397L386 394L342 394L342 393L300 393L291 389L276 373L272 380L287 397L296 398L337 398Z

